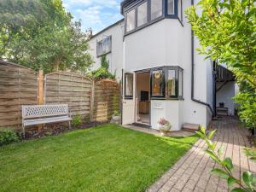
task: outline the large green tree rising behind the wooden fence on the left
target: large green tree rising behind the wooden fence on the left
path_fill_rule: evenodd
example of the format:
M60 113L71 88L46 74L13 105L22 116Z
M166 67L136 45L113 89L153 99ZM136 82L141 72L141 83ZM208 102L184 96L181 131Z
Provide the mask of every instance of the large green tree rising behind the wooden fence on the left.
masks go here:
M0 0L0 14L0 58L46 73L92 64L88 36L61 0Z

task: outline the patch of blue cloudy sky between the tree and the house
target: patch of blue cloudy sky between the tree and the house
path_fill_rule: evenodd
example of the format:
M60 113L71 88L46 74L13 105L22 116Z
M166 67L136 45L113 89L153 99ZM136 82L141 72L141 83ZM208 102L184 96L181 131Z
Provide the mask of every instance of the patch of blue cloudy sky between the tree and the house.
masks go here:
M81 20L82 30L89 28L93 33L122 19L120 3L122 0L62 0L63 6L74 20Z

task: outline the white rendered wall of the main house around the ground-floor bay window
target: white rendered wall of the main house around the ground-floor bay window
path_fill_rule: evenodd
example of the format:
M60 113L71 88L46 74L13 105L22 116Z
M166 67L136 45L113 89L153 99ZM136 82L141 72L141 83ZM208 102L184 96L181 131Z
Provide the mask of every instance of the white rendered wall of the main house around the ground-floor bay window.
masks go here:
M184 8L189 5L189 1L183 1ZM175 19L160 20L125 37L126 71L161 66L180 66L184 70L183 101L151 101L153 128L158 127L160 117L172 122L172 130L180 130L183 123L207 126L211 119L207 106L191 100L191 28L187 20L183 20L183 26ZM195 40L195 48L198 46ZM203 55L195 52L195 98L212 103L212 71L206 62ZM161 107L155 107L154 103Z

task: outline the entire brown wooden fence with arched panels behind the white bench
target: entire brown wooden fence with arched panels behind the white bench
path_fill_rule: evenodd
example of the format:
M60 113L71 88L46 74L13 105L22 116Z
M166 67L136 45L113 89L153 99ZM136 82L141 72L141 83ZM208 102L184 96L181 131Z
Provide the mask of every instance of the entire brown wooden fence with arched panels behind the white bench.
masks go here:
M113 80L94 82L69 72L44 75L0 61L0 128L20 127L22 105L68 104L72 115L102 122L119 110L119 101L120 86Z

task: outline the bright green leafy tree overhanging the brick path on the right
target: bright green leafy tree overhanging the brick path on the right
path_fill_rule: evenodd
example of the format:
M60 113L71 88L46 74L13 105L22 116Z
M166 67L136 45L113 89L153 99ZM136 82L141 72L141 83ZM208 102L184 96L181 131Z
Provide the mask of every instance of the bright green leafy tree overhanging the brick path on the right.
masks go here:
M201 44L198 51L227 64L236 81L250 87L241 90L236 102L241 120L255 126L255 115L250 114L256 108L255 0L201 0L186 14Z

